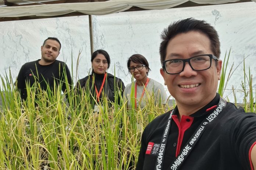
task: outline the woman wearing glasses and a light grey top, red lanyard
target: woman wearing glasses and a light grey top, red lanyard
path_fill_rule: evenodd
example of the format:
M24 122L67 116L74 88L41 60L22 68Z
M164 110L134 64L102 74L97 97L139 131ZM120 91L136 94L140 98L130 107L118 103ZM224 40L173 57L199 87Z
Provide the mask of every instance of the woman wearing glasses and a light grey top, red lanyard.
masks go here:
M128 100L128 107L131 108L131 98L135 98L135 108L138 106L145 107L147 98L154 95L155 103L166 103L167 95L162 84L147 77L150 68L147 59L140 55L134 54L127 61L127 67L129 72L135 78L135 82L128 84L124 90L124 95ZM134 85L134 87L132 87ZM131 94L132 88L134 88L135 94Z

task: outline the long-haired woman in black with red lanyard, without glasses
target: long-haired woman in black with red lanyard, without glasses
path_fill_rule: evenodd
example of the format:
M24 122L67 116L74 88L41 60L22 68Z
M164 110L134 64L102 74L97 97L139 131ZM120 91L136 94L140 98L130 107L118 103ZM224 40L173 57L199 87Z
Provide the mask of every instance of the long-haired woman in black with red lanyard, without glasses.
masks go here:
M91 62L92 74L77 82L76 90L78 91L78 95L81 96L81 92L86 92L87 90L87 93L95 97L97 102L101 101L103 94L107 96L109 101L114 102L115 90L120 90L122 95L125 86L120 78L107 73L107 69L110 66L109 54L103 49L99 49L92 53ZM91 103L94 104L95 100L91 100ZM119 98L118 103L120 103ZM94 107L97 107L97 105ZM95 108L95 110L97 109Z

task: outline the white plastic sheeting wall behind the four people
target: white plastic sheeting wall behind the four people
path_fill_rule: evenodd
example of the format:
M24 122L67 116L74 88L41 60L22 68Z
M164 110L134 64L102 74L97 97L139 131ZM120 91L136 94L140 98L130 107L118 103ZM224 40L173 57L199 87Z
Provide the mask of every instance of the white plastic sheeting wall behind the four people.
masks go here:
M227 96L234 102L232 95L234 88L237 102L243 102L244 94L241 92L241 83L244 82L243 63L240 65L239 63L248 55L245 60L245 71L249 77L250 68L250 74L253 75L253 96L255 96L256 3L254 2L93 15L94 49L104 49L109 53L111 64L108 72L115 73L125 85L131 82L126 65L127 59L135 53L147 58L151 69L149 77L163 84L159 72L160 33L171 22L189 17L204 19L215 27L220 36L221 60L224 59L225 52L231 48L227 69L231 70L233 62L233 70L235 67L238 68L230 78L224 97ZM60 39L62 47L58 60L65 61L70 70L74 71L74 82L77 82L77 78L88 75L91 69L88 15L0 22L0 30L2 77L6 73L8 75L10 69L15 80L22 64L39 59L40 47L47 37ZM78 52L81 50L79 66L76 67ZM248 89L247 80L246 88Z

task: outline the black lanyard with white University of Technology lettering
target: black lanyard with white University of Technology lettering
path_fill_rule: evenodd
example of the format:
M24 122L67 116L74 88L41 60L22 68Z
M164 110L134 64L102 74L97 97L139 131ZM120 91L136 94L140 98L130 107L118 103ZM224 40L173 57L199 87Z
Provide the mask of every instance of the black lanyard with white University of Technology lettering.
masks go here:
M185 161L185 159L190 154L193 147L198 142L199 138L202 136L203 132L205 131L206 127L209 126L209 123L216 119L218 114L223 110L223 108L226 106L227 101L225 101L222 97L220 97L220 101L216 107L216 109L211 112L198 126L197 130L195 130L195 133L191 136L191 138L188 140L188 142L185 144L184 148L179 152L179 155L173 160L171 165L168 167L168 169L171 170L178 170L182 163ZM173 115L173 111L170 114L170 117L168 118L168 122L166 124L166 128L164 130L163 136L161 138L160 142L160 149L157 155L156 159L156 165L155 170L162 170L163 169L163 162L164 162L164 152L166 150L166 143L167 138L170 131L170 125L171 125L171 116Z

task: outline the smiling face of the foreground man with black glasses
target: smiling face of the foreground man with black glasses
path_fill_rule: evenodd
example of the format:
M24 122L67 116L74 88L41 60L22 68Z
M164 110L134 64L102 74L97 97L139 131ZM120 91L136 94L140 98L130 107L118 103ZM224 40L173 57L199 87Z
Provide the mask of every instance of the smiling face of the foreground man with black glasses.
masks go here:
M201 32L190 31L180 33L168 42L165 60L188 59L203 54L213 54L210 39ZM212 60L209 69L194 71L189 63L185 63L181 73L167 74L163 69L160 69L160 72L178 107L199 108L215 97L221 64L221 60L217 61L217 65L215 60Z

